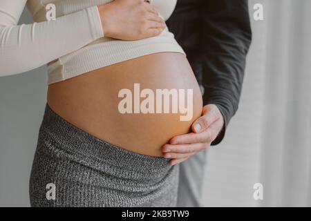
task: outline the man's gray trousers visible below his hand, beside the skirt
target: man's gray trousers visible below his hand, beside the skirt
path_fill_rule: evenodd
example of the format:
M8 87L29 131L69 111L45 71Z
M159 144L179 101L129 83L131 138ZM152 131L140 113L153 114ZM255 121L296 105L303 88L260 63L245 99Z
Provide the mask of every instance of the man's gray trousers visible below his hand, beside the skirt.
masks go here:
M207 150L180 164L177 206L200 207L207 164Z

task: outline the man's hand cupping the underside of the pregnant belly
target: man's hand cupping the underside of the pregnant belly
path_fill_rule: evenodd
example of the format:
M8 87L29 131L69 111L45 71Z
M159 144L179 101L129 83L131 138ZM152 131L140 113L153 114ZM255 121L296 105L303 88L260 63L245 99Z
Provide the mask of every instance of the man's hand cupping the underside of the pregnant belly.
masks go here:
M224 125L223 115L214 104L203 107L202 116L196 119L191 128L193 133L171 138L162 147L165 158L171 158L171 165L187 160L191 155L211 146Z

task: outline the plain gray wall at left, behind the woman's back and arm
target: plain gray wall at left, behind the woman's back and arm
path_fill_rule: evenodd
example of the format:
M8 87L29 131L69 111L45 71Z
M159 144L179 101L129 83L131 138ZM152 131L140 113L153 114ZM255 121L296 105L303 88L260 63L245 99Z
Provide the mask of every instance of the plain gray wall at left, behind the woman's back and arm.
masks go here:
M24 10L20 21L32 23ZM46 104L46 67L0 78L0 206L29 206L28 181Z

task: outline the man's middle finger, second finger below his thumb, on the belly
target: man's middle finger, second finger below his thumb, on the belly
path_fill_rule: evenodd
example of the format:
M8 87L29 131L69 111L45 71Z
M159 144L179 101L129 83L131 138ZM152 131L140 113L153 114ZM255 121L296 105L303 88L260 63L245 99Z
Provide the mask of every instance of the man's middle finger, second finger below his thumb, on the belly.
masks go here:
M162 146L162 152L164 153L164 157L169 155L169 153L196 153L202 151L203 149L210 146L210 143L197 143L197 144L165 144ZM167 155L165 155L168 153ZM167 156L169 158L169 156ZM175 158L175 157L172 157Z

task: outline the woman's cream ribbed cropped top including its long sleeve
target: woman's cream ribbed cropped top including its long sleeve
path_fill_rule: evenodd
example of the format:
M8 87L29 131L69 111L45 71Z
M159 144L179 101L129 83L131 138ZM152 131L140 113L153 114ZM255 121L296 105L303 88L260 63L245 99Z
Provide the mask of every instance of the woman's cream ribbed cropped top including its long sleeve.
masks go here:
M169 30L157 37L121 41L104 37L97 6L112 0L1 0L0 76L48 64L48 84L156 52L185 52ZM177 0L151 0L167 20ZM35 23L17 26L27 3ZM55 20L46 21L46 6Z

